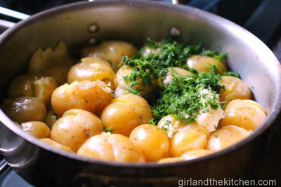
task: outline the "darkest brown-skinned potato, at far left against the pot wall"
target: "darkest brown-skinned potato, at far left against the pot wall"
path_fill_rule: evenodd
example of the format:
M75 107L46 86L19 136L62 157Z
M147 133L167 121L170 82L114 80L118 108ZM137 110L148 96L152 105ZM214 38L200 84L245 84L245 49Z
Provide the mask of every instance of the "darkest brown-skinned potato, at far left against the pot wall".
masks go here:
M1 106L4 113L18 123L27 121L42 121L46 116L46 106L44 102L35 97L16 97L4 99Z

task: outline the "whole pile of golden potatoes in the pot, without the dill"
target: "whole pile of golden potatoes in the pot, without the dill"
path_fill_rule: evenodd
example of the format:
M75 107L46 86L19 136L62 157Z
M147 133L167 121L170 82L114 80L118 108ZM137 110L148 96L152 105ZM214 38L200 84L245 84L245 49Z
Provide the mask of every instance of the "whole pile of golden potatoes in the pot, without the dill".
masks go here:
M146 47L143 55L160 49ZM153 88L141 88L141 95L124 94L124 76L129 67L119 67L123 56L133 57L136 48L124 41L104 41L85 48L75 61L65 43L37 50L28 74L15 78L1 109L25 132L64 151L98 160L116 162L177 162L221 151L241 141L266 118L263 108L251 100L248 86L233 76L222 76L221 101L228 102L221 116L216 111L203 116L202 123L217 118L214 127L185 124L165 116L157 125L143 96ZM186 60L190 68L207 72L214 64L221 72L226 66L212 57L194 55ZM173 67L163 80L192 74ZM159 80L155 80L155 84ZM139 86L139 85L136 85Z

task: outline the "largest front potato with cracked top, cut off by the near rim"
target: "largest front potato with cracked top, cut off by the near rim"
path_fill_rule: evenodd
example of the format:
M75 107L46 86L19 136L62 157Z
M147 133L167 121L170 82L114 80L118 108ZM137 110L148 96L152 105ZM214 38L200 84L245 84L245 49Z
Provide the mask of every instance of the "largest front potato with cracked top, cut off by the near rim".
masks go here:
M141 150L128 137L104 133L91 137L79 148L78 155L116 162L145 162Z

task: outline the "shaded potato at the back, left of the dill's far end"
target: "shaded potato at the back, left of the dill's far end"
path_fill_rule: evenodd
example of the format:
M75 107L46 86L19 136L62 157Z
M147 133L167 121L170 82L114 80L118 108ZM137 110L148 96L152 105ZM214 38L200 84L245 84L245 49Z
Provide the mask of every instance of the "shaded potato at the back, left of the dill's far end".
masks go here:
M112 64L112 68L117 71L119 63L124 56L133 57L136 54L136 48L130 43L124 41L103 41L96 47L84 48L81 57L99 57Z

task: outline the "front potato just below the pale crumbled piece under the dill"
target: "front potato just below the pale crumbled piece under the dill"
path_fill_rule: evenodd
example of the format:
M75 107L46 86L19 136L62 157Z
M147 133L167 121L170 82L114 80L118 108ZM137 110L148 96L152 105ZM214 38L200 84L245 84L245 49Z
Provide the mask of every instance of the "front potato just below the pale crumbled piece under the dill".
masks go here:
M170 139L170 155L180 156L186 151L206 148L209 132L199 125L186 125L184 130L174 134Z

